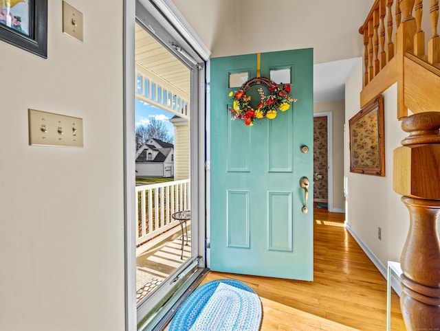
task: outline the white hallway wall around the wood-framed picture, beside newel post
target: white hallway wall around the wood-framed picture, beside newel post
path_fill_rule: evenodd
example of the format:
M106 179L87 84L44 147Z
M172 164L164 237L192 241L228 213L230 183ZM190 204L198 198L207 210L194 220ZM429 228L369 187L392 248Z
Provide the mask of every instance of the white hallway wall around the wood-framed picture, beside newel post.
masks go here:
M345 85L345 176L347 176L347 222L377 258L387 265L399 261L409 227L409 214L393 191L393 150L406 137L397 120L397 85L384 92L385 111L385 173L371 176L350 172L349 119L360 111L362 61L353 70ZM382 228L382 240L377 228Z

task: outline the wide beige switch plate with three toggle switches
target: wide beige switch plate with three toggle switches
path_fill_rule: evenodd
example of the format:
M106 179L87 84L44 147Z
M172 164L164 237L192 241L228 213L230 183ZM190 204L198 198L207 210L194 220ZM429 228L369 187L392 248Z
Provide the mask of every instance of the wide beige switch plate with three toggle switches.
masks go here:
M83 119L29 109L29 144L83 147Z

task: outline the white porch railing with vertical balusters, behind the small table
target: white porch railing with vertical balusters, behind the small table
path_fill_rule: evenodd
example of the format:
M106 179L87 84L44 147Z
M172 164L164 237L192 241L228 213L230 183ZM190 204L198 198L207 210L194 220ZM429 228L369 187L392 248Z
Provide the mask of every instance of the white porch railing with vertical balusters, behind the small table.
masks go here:
M136 186L136 245L179 225L171 215L190 209L190 180Z

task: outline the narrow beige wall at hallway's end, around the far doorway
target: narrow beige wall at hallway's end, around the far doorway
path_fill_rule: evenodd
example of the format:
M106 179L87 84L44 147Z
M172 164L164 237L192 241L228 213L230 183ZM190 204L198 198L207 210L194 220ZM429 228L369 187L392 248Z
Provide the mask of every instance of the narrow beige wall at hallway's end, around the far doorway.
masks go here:
M342 212L345 209L344 197L344 121L345 101L314 103L314 113L331 111L333 118L333 206Z

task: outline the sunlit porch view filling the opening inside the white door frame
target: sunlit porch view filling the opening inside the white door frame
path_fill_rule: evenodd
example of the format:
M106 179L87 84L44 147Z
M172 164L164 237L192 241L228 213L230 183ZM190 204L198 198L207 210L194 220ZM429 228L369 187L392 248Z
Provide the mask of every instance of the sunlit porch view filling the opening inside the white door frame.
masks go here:
M192 255L191 221L175 217L190 210L191 105L190 69L138 23L135 71L139 304Z

